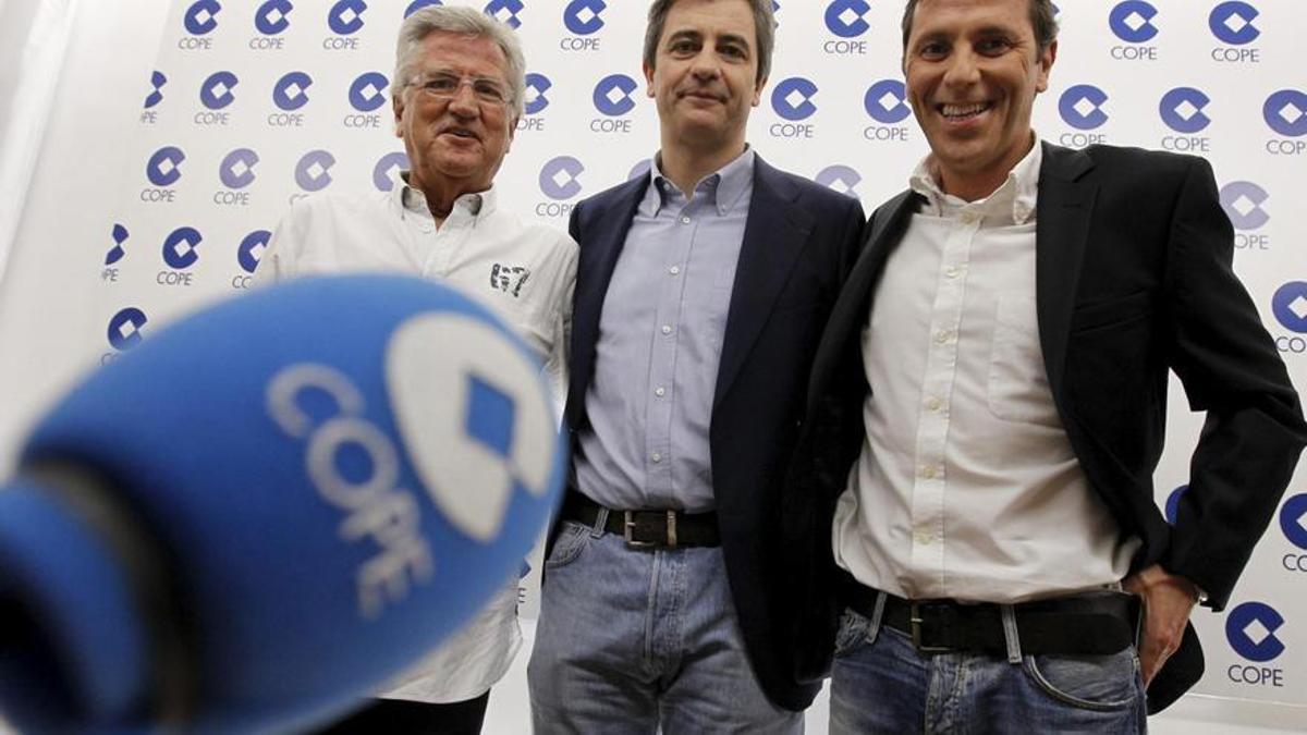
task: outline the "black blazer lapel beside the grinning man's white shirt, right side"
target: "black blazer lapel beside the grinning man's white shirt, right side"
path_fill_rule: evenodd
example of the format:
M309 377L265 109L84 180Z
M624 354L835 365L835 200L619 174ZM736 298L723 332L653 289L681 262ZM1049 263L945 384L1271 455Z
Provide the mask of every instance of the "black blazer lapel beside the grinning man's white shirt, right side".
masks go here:
M1035 205L1035 311L1053 396L1061 395L1070 314L1098 195L1098 184L1080 179L1093 167L1081 150L1044 144Z

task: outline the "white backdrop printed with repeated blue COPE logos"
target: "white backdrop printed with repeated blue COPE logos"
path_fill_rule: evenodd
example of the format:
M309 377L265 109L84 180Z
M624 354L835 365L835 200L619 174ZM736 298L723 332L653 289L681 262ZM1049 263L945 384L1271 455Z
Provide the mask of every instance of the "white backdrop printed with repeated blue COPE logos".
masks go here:
M239 294L288 203L388 187L393 35L417 0L84 4L51 135L0 288L0 456L81 370L196 305ZM499 174L506 207L566 226L657 145L638 0L457 0L519 26L529 114ZM105 8L114 5L114 8ZM1208 157L1235 267L1307 388L1307 75L1300 0L1063 0L1035 124L1055 143ZM925 145L902 103L901 3L782 0L750 141L860 196L906 186ZM221 369L216 365L214 369ZM1172 390L1158 502L1185 483L1201 416ZM182 438L180 441L184 441ZM1197 692L1307 706L1307 472L1225 613L1197 613Z

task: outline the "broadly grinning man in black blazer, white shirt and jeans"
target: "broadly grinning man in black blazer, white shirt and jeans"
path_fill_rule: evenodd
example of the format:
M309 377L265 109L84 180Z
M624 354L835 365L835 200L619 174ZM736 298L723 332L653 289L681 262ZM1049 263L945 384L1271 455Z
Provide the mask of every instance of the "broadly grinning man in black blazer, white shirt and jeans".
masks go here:
M1189 612L1273 515L1298 398L1205 161L1039 143L1047 0L912 0L903 37L931 154L813 366L782 514L796 675L834 649L836 732L1144 730L1201 674ZM1206 411L1174 527L1168 370Z

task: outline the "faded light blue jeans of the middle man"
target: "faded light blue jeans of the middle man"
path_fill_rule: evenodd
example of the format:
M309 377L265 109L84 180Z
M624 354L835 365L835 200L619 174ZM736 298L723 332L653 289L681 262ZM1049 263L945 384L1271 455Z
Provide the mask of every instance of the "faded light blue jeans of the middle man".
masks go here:
M720 548L639 551L563 523L527 667L544 732L802 732L749 666Z

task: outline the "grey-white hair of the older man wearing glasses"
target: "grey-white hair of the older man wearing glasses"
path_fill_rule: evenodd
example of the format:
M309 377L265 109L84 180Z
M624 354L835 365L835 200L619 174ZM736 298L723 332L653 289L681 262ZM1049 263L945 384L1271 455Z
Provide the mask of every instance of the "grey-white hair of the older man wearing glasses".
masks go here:
M457 5L429 5L404 18L400 25L399 41L395 43L395 78L391 80L391 95L399 97L403 89L413 84L413 67L422 54L422 41L433 33L461 33L489 38L495 42L508 63L505 69L508 78L508 94L512 95L512 119L521 118L527 95L527 59L521 54L518 34L507 25L472 8Z

